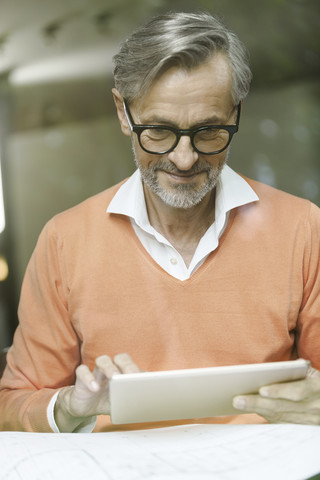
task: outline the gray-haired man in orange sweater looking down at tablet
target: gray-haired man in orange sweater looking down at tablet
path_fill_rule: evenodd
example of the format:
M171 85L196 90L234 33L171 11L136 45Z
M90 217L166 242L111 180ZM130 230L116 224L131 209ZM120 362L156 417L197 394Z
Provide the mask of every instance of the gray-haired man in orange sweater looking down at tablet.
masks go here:
M253 415L204 421L319 424L320 213L226 166L251 80L243 46L210 15L168 14L114 61L138 170L43 230L1 428L91 431L101 415L96 430L112 429L113 374L298 357L306 379L235 398Z

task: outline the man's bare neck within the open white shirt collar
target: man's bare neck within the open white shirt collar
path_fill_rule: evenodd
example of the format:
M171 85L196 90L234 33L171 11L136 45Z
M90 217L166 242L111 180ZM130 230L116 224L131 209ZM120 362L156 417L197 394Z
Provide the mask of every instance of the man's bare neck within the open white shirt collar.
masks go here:
M144 185L150 224L180 253L189 266L198 243L215 218L215 190L188 209L165 204Z

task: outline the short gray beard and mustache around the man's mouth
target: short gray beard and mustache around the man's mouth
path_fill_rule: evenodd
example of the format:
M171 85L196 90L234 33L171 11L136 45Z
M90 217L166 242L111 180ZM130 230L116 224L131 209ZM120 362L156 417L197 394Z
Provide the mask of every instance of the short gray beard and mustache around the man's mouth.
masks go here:
M228 155L228 154L227 154ZM142 181L150 190L158 195L161 200L170 207L188 209L198 205L204 197L211 192L220 178L221 171L226 160L220 162L217 167L206 160L198 160L188 171L180 172L170 160L159 160L155 165L145 168L140 165L137 155L134 152L134 159L140 170ZM163 188L158 182L158 170L165 170L170 173L198 173L204 172L207 176L206 181L198 188L190 182L188 184L172 184L171 189Z

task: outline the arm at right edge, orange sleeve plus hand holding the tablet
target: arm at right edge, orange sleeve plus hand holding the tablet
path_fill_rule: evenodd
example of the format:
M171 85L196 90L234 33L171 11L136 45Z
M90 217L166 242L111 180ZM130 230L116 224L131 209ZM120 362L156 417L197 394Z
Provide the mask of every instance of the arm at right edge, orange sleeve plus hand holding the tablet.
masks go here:
M268 421L320 425L320 209L310 205L305 226L303 296L296 327L298 356L310 360L304 380L262 387L259 395L238 396L234 407Z

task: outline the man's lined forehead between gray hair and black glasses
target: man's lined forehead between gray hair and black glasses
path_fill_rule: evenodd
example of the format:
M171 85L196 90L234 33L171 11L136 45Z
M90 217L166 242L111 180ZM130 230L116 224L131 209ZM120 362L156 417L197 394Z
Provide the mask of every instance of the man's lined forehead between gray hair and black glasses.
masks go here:
M214 55L190 71L170 68L142 99L133 103L140 122L172 119L180 125L195 123L210 115L223 119L230 114L232 106L232 73L223 54Z

